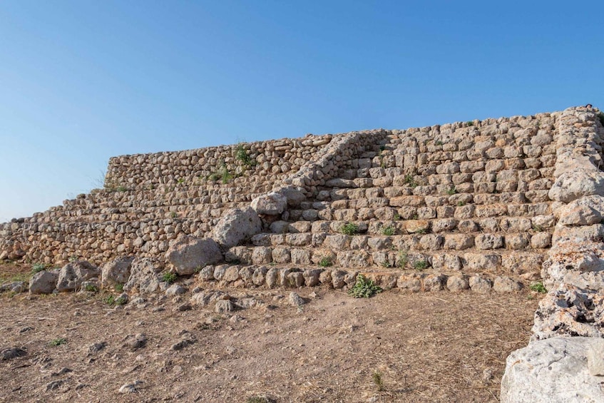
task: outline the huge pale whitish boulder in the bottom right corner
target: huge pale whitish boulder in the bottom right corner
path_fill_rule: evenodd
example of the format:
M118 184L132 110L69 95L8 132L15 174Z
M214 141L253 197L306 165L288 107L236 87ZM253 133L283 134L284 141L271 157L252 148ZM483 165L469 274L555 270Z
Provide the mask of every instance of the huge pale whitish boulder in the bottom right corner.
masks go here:
M604 402L604 340L554 337L512 352L501 379L502 403Z

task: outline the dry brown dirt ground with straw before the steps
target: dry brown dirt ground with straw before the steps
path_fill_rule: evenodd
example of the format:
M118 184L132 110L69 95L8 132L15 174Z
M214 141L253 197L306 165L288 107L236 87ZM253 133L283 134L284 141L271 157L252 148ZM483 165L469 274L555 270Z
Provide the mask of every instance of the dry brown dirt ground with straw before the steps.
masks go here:
M0 350L26 354L0 361L0 402L498 402L539 298L317 287L295 290L307 304L294 307L292 290L225 291L258 304L217 314L177 310L190 291L141 308L5 293Z

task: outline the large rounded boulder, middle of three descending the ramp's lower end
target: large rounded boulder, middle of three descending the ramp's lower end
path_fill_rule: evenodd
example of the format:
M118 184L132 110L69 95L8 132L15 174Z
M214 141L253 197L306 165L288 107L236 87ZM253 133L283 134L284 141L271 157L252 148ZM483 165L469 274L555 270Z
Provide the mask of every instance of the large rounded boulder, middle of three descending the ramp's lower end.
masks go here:
M260 233L262 223L258 213L251 207L245 209L233 208L220 218L210 238L222 248L228 249L239 245L243 240Z

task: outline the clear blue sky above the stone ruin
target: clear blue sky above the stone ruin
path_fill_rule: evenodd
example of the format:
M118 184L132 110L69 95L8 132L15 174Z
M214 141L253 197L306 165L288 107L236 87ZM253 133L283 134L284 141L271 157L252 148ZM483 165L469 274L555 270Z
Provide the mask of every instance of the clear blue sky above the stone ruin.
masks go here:
M113 155L604 108L600 1L0 0L0 222Z

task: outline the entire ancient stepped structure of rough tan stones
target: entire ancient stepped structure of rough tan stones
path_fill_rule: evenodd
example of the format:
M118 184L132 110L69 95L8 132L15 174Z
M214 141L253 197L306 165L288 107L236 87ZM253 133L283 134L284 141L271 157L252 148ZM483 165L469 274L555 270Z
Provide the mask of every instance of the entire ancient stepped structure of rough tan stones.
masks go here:
M502 387L521 402L543 382L531 349L566 345L543 340L584 336L590 368L604 355L590 339L604 312L603 120L579 107L111 158L103 190L0 224L0 259L106 264L103 284L138 292L164 290L163 270L235 287L346 290L359 273L410 292L542 281L534 340ZM53 275L39 277L36 292Z

